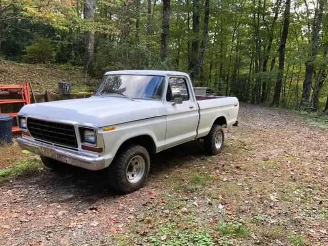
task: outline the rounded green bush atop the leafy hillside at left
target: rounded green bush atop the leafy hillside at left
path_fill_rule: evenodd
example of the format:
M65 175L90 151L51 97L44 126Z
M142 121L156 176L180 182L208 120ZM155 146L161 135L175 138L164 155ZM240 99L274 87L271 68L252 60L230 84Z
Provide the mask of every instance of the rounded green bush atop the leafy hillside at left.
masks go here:
M51 40L45 37L36 37L35 40L33 45L26 47L23 60L31 64L51 62L56 54Z

